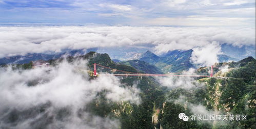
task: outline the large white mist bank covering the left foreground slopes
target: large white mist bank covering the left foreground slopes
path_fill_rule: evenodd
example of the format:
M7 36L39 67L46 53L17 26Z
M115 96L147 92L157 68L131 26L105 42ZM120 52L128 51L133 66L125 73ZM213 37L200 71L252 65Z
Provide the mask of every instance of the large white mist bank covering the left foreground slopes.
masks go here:
M46 111L28 115L18 119L15 128L33 128L36 122L47 119L52 123L48 128L117 128L117 119L93 116L84 108L97 97L97 93L106 92L109 101L130 101L140 103L139 90L133 87L120 87L119 79L114 76L99 76L89 80L86 62L69 64L66 61L55 67L36 67L31 70L12 70L11 67L0 69L0 128L9 125L5 122L6 115L14 109L17 112L35 109L44 104ZM37 83L35 83L37 82ZM30 86L29 84L34 84ZM67 109L62 121L57 119L57 112ZM33 110L31 111L33 112ZM31 113L30 113L31 114ZM81 115L81 116L80 116ZM27 117L31 116L31 117ZM45 118L45 117L52 118ZM43 125L42 125L43 126Z

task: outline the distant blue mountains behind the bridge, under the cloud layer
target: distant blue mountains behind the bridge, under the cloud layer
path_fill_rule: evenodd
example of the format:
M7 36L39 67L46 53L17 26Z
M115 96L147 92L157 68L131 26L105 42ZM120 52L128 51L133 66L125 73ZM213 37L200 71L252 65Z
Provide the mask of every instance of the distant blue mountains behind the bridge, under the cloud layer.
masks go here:
M140 65L146 65L152 68L152 71L145 70L146 73L168 73L168 72L181 72L183 70L188 70L189 68L196 68L194 64L191 63L190 57L193 50L172 50L162 56L157 56L151 51L147 50L144 53L129 53L126 59L131 59L127 61L121 61L118 59L113 59L117 63L126 63L139 70L141 70ZM69 50L65 53L58 54L26 54L24 56L13 56L0 59L0 64L24 64L30 61L36 60L51 60L58 59L63 56L78 56L85 54L85 50ZM227 55L218 55L220 62L227 61L237 61L238 59L229 57ZM136 60L136 61L134 61ZM143 62L141 62L143 61ZM135 63L136 62L136 63Z

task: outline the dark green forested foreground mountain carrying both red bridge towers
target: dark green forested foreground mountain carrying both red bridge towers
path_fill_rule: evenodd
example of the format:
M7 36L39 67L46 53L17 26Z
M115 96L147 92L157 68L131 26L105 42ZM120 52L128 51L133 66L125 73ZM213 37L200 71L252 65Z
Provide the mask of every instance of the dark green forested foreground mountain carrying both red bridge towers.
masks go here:
M67 57L67 61L72 63L75 60L89 60L88 66L97 63L106 67L118 70L140 72L132 66L117 64L113 62L107 54L97 54L90 52L83 56ZM50 66L57 65L64 58L47 61ZM31 69L33 63L16 65L17 68ZM13 65L13 67L16 67ZM93 70L93 67L90 67ZM208 74L208 67L199 68L200 74ZM107 69L99 69L107 72ZM222 72L222 73L220 73ZM110 72L115 73L115 72ZM117 72L118 73L118 72ZM168 88L162 86L158 79L152 77L123 78L120 79L121 87L137 87L140 89L141 103L132 104L129 101L113 102L107 100L105 93L100 91L80 114L84 111L93 115L111 119L118 119L120 126L117 128L255 128L255 59L248 57L239 62L215 63L214 76L230 78L203 78L190 80L189 78L170 78L170 81L190 80L190 88L184 87L185 83L179 87ZM92 79L96 79L94 76ZM134 85L134 83L136 85ZM13 110L5 119L11 124L16 124L24 115L26 118L33 118L29 114L33 111L46 112L51 104L34 107L32 110ZM216 114L246 114L247 121L225 121L225 122L201 122L183 121L178 115L183 112L190 116L196 114L195 110L202 110L205 113ZM64 119L69 111L62 109L58 119ZM46 127L52 122L48 117L42 117L43 124L33 125L34 127Z

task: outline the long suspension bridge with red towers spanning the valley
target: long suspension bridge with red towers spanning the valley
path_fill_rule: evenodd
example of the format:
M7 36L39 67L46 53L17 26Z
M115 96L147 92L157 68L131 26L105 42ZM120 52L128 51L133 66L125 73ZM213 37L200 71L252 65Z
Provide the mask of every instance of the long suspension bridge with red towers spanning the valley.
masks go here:
M93 76L97 76L99 73L97 72L96 66L103 67L106 69L110 69L113 72L119 71L119 72L124 72L126 74L106 74L106 73L101 73L100 75L114 75L114 76L190 76L190 77L213 77L213 66L211 66L211 73L210 75L187 75L187 74L148 74L148 73L138 73L138 72L129 72L129 71L123 71L123 70L118 70L110 67L106 67L100 64L92 64L94 66L94 71L93 71ZM91 65L91 66L92 66Z

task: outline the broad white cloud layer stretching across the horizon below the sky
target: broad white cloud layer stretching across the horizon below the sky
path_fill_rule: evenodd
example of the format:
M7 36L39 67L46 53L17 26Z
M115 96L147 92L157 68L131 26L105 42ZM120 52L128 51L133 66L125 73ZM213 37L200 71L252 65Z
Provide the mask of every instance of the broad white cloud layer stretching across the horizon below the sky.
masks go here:
M63 49L151 44L156 54L211 42L254 45L255 28L172 27L0 27L0 58Z

